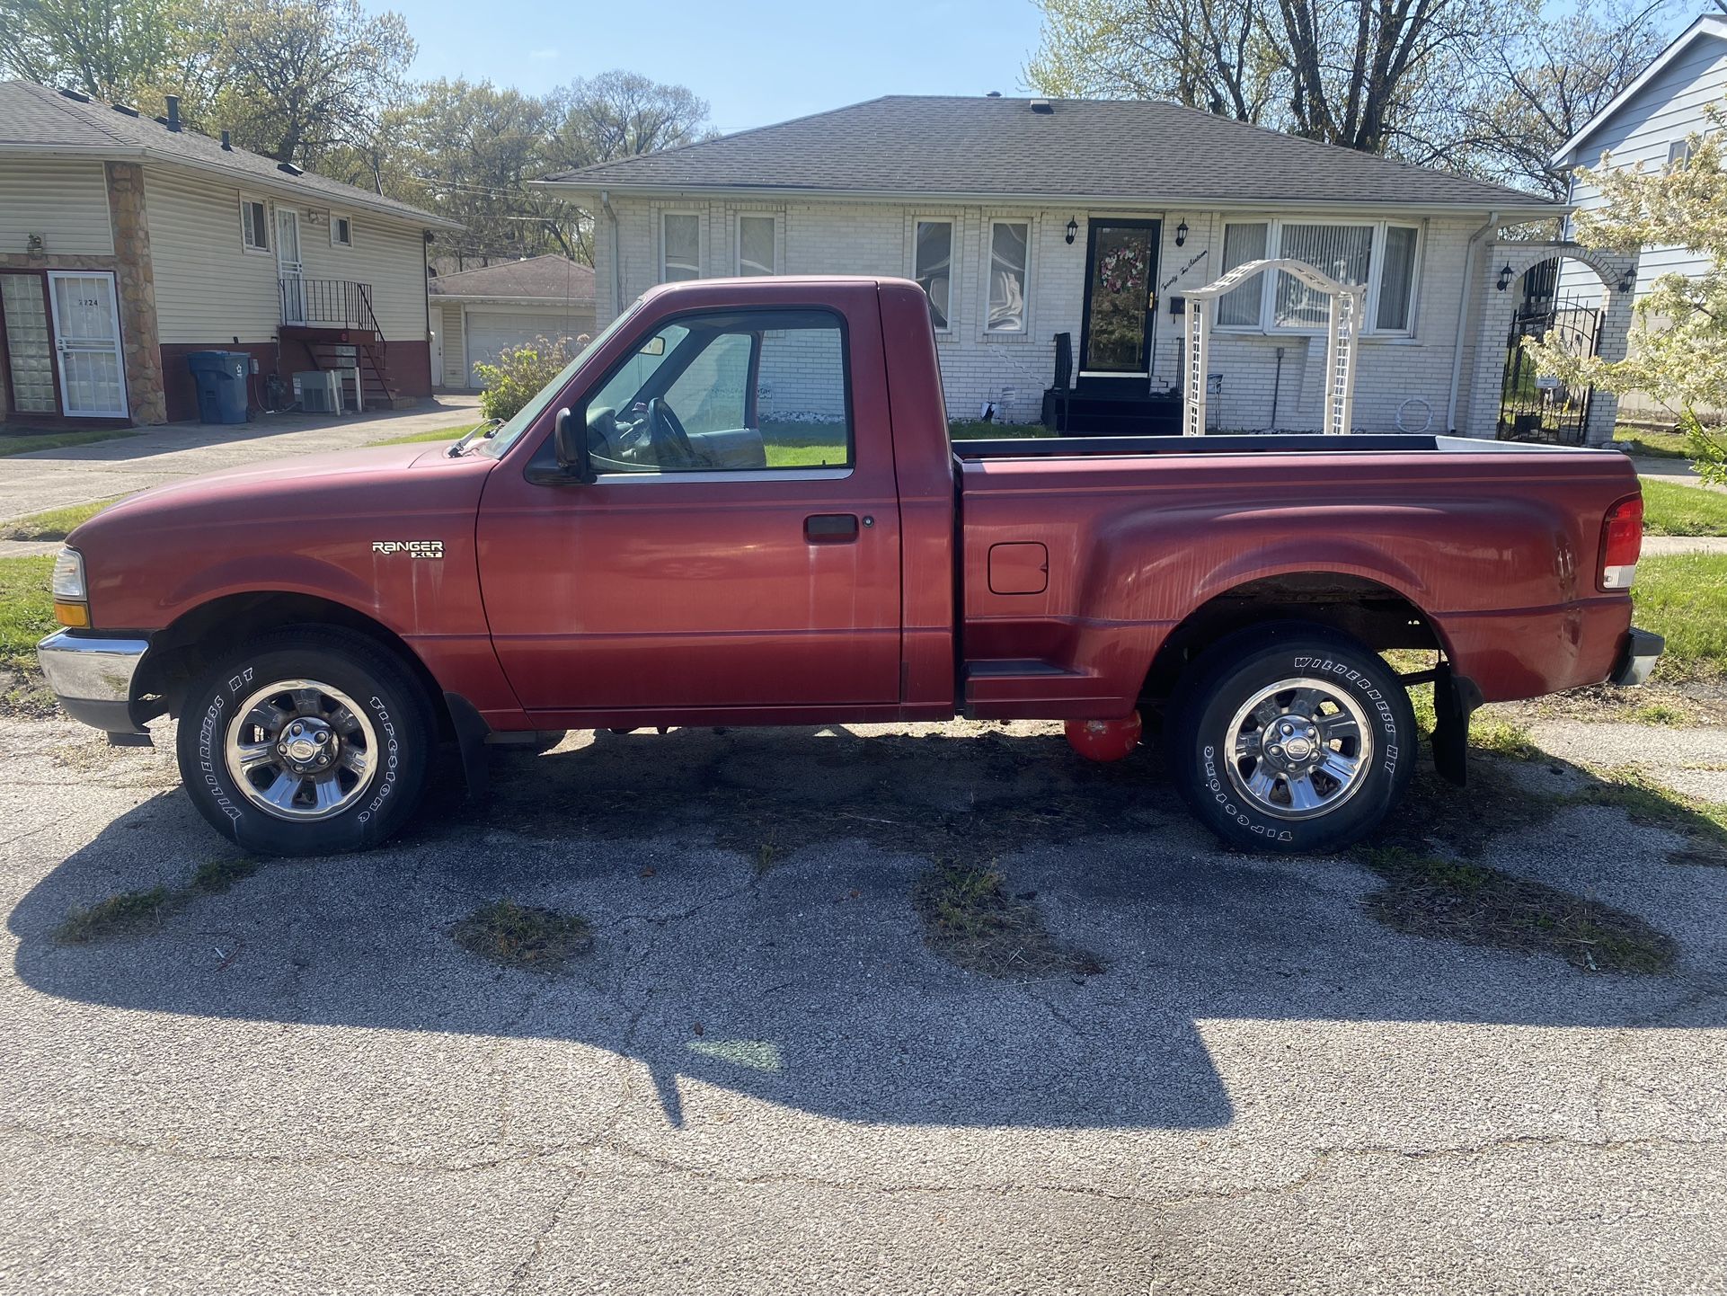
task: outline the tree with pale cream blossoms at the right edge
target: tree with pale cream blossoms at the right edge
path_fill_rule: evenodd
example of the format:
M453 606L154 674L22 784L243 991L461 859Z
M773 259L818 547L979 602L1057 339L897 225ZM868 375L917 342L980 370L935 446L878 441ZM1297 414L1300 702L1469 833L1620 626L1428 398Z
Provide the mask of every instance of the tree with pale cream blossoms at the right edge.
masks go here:
M1691 157L1661 171L1642 166L1578 175L1606 206L1578 213L1585 247L1629 252L1684 247L1713 264L1698 278L1661 275L1637 302L1627 359L1573 356L1549 335L1525 346L1542 373L1613 392L1641 391L1665 404L1689 434L1705 480L1727 484L1727 112L1708 109L1711 130L1691 137Z

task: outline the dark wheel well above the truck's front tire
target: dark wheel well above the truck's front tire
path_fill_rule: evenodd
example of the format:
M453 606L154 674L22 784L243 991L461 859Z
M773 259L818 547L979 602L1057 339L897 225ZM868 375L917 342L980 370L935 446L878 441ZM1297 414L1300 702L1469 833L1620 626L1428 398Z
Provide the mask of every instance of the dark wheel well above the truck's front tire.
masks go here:
M143 658L136 683L135 719L145 721L162 714L178 715L192 681L204 674L212 662L249 639L283 626L338 626L363 634L394 653L425 688L432 712L439 719L439 729L446 731L447 736L451 721L444 691L402 636L345 603L285 591L259 591L211 600L181 613L166 629L150 636L150 651Z

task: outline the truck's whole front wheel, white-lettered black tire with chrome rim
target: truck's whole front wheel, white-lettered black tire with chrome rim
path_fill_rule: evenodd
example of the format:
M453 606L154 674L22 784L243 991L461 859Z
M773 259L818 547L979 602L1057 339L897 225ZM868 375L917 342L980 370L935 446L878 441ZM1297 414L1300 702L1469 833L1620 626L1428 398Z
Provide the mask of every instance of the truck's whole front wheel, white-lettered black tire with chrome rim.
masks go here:
M216 831L266 855L375 847L413 814L437 727L425 691L356 634L295 627L187 693L176 755Z

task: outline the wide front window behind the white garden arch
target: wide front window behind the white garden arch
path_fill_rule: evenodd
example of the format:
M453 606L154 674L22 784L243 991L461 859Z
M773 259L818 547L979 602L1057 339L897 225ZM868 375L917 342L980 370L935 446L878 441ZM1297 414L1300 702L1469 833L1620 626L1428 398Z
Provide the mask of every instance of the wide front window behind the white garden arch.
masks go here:
M1414 328L1420 230L1413 225L1319 225L1313 221L1242 221L1224 225L1223 270L1261 257L1292 257L1332 278L1366 289L1363 332L1409 334ZM1326 294L1281 271L1243 283L1218 304L1218 327L1311 334L1332 314Z

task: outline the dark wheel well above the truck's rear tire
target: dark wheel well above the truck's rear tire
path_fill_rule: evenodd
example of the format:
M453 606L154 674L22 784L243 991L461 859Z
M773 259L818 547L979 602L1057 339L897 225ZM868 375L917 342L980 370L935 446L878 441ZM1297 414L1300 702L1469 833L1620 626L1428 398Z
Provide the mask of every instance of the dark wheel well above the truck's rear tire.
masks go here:
M1142 698L1167 698L1188 662L1223 636L1261 620L1307 620L1361 639L1375 651L1444 651L1444 641L1427 613L1389 586L1337 572L1273 575L1249 581L1193 608L1157 650Z

